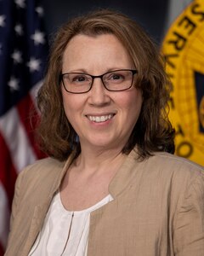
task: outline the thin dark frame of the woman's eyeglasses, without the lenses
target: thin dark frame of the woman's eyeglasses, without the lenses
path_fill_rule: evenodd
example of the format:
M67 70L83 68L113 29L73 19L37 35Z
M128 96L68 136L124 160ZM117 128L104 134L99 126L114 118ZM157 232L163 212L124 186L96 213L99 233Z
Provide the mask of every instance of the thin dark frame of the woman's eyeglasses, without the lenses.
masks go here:
M136 70L136 69L116 69L116 70L112 70L112 71L103 73L103 74L101 74L101 75L99 75L99 76L94 76L94 75L91 75L91 74L89 74L89 73L70 72L70 73L76 73L76 74L78 73L78 74L88 75L88 76L90 76L90 77L92 78L92 83L90 84L90 88L89 88L88 90L86 90L86 91L83 91L83 92L73 92L73 91L67 90L67 89L65 88L65 83L64 83L64 80L63 80L63 76L64 76L65 74L69 74L69 73L61 73L61 74L59 75L59 84L60 84L60 82L62 81L62 84L63 84L65 90L66 90L67 92L73 93L73 94L82 94L82 93L87 93L88 91L90 91L90 90L92 89L92 87L93 87L94 79L101 79L102 84L104 85L105 89L106 89L106 90L109 90L109 91L123 91L123 90L128 90L128 89L130 89L130 88L133 86L133 77L132 77L131 84L130 84L130 86L129 86L127 89L122 89L122 90L110 90L110 89L108 89L108 88L105 86L103 77L104 77L106 74L108 74L108 73L113 73L113 72L117 72L117 71L130 71L130 72L132 72L133 77L134 77L134 74L138 73L138 70Z

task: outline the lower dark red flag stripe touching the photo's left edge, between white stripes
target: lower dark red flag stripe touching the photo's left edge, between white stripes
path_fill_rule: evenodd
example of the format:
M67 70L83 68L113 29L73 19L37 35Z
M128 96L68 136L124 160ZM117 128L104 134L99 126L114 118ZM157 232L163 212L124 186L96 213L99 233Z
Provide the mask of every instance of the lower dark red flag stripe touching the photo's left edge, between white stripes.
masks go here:
M10 152L0 133L0 180L8 196L8 206L11 207L14 196L14 183L17 177L17 172L12 163Z

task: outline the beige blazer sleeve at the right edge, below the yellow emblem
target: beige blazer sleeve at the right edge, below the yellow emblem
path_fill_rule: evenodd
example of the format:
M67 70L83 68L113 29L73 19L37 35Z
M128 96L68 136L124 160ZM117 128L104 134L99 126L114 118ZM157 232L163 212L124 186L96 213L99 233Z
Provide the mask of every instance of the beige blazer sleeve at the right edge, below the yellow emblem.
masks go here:
M185 189L173 228L176 256L204 255L204 172Z

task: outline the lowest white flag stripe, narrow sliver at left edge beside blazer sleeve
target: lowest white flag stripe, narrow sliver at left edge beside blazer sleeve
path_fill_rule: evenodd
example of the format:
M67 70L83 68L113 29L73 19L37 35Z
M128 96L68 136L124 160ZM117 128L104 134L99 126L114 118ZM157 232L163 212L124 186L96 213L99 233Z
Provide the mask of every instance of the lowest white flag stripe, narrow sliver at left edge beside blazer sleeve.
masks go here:
M0 182L0 243L5 249L7 245L8 230L9 230L9 215L8 199L4 191L3 184Z

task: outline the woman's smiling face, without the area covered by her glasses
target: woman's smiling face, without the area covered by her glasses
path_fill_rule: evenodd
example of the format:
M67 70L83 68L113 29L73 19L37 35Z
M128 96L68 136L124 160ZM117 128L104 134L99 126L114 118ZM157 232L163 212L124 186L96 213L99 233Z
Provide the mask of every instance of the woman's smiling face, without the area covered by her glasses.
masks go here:
M116 69L134 69L127 50L111 34L95 37L77 35L63 56L62 73L101 75ZM135 74L136 76L137 74ZM109 91L101 79L94 79L91 90L72 94L61 86L65 114L77 132L81 147L122 150L139 118L141 91Z

